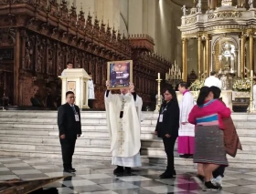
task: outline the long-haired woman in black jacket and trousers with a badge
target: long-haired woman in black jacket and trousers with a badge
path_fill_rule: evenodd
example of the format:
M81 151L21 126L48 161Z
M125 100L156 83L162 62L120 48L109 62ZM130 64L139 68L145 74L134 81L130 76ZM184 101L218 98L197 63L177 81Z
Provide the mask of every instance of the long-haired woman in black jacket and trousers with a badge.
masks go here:
M179 107L176 91L172 88L165 89L165 102L162 104L155 127L155 135L163 138L165 153L167 155L167 168L160 175L161 179L170 179L176 175L174 164L174 148L179 128Z

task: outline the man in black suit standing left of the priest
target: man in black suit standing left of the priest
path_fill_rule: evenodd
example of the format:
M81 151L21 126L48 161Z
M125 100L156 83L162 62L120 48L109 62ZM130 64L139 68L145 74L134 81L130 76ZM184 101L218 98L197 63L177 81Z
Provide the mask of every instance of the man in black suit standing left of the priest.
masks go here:
M77 137L81 135L80 108L76 106L75 95L66 93L67 103L58 110L59 141L62 151L63 168L65 172L75 172L72 168L72 156L75 150Z

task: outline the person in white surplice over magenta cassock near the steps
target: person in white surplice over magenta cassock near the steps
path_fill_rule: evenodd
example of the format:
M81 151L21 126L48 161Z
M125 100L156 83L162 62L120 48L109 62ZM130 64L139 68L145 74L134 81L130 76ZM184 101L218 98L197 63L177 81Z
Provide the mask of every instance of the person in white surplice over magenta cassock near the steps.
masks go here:
M181 158L192 158L194 154L195 126L188 123L187 118L191 109L196 105L195 99L187 89L187 82L178 85L179 92L183 95L179 103L179 130L177 152Z

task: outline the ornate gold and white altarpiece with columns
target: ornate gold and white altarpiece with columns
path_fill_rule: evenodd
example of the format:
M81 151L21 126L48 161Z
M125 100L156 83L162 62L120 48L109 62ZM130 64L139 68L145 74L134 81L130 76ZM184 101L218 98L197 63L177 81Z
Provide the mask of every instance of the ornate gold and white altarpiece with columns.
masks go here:
M201 0L194 0L194 7L182 7L182 75L187 81L187 66L195 66L187 60L187 45L197 39L197 77L202 80L216 71L222 83L222 95L232 106L234 80L250 78L252 103L252 78L254 72L254 38L256 33L256 9L253 1L208 1L208 10L202 11ZM190 49L189 49L190 51ZM195 55L194 55L195 56ZM250 105L251 107L251 105Z

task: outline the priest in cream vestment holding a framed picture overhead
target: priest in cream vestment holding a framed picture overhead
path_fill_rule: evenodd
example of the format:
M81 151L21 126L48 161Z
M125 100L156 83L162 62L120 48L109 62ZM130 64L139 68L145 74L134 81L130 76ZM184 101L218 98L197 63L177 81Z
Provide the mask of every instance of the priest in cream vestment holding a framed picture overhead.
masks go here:
M109 82L106 82L107 87ZM142 100L130 88L122 89L121 95L107 90L105 107L108 130L111 138L112 165L117 165L115 175L130 175L131 168L142 165L141 148L141 109Z

